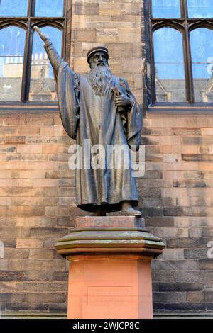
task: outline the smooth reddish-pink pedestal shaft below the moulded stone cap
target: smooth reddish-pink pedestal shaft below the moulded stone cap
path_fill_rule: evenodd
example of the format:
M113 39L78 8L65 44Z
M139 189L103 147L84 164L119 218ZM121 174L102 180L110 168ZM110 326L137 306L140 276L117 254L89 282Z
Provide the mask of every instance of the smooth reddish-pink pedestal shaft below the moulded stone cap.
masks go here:
M151 260L141 256L72 256L68 318L152 318Z

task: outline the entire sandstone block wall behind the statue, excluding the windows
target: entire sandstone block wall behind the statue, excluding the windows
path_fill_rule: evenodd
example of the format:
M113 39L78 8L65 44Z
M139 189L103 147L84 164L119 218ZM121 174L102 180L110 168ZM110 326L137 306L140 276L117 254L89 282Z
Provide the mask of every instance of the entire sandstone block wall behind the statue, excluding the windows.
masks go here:
M70 64L88 71L94 45L109 47L114 74L143 103L141 0L72 1ZM142 27L141 27L142 25ZM67 264L54 244L84 212L75 208L73 143L57 110L0 113L1 310L66 312ZM146 225L167 243L153 263L155 312L213 311L213 115L148 113L146 174L138 179Z

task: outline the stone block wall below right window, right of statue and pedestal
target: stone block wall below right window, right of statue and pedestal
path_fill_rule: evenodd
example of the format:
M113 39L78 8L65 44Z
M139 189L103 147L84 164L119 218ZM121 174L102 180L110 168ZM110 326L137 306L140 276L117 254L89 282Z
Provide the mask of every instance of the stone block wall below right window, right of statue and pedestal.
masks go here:
M153 262L155 312L212 312L213 115L148 114L143 143L142 211L167 244Z

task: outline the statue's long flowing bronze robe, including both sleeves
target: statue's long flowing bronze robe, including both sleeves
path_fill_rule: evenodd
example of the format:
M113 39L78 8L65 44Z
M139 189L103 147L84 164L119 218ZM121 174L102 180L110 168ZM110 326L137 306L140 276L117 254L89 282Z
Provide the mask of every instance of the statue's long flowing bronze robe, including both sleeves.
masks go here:
M107 163L108 145L136 145L138 149L141 142L142 111L126 79L116 77L116 88L133 98L133 103L129 110L118 112L114 96L97 96L89 74L73 72L50 40L45 43L45 50L54 69L62 124L67 135L82 147L83 168L75 170L77 206L88 212L94 212L97 207L112 212L121 210L124 201L138 205L136 179L131 166L129 169L113 169ZM104 168L84 168L85 140L89 140L91 147L102 145L106 149Z

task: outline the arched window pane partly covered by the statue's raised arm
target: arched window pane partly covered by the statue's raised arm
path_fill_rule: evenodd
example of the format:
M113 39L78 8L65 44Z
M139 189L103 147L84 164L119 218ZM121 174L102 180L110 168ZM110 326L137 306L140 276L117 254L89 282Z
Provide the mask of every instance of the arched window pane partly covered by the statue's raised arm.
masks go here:
M48 35L55 49L58 51L59 55L61 55L62 32L53 27L45 27L40 30L45 35ZM57 101L53 68L48 60L48 55L43 45L44 43L38 36L38 33L34 33L29 101Z

